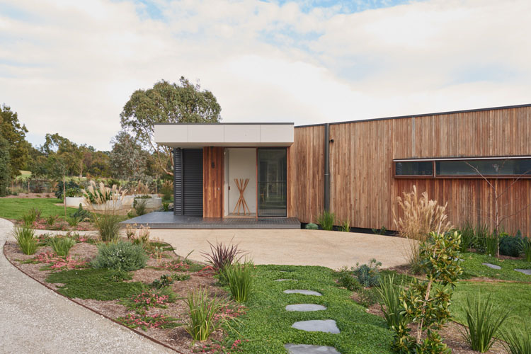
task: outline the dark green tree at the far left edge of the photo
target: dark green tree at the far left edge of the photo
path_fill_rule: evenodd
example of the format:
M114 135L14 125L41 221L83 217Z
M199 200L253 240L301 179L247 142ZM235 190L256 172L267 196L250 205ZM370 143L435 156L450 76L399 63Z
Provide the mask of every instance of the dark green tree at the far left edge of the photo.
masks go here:
M28 145L25 133L28 129L18 121L18 115L7 105L0 107L0 135L8 142L9 169L11 178L21 174L28 159Z

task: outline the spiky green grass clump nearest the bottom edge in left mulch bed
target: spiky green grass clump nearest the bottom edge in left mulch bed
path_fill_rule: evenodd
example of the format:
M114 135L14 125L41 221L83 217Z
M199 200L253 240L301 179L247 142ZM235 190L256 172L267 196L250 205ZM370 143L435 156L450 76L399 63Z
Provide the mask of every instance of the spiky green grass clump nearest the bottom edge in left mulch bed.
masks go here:
M207 290L194 290L188 293L186 300L190 320L186 324L186 331L194 341L205 341L210 333L217 329L216 314L222 307L217 297L209 299Z

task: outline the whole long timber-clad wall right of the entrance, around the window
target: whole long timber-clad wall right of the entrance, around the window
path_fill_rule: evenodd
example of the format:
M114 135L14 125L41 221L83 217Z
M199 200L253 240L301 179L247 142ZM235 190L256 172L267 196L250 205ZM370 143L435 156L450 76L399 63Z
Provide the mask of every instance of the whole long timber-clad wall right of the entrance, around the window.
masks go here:
M394 178L393 159L531 155L531 107L480 110L330 125L331 211L338 223L395 229L396 197L413 184L448 203L450 221L489 222L494 203L481 178ZM324 126L295 127L290 148L293 216L314 221L323 210ZM493 181L493 180L490 180ZM514 180L499 179L498 190ZM499 204L513 215L531 203L531 179L516 181ZM506 231L531 235L531 208L509 217Z

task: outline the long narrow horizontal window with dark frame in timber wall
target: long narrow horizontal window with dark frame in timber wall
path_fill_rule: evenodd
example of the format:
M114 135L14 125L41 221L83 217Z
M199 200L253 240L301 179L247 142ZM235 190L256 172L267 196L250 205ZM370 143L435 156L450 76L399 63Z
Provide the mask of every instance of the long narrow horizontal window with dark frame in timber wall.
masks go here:
M435 169L435 171L434 171ZM435 173L434 173L435 172ZM397 178L531 178L531 156L394 160Z

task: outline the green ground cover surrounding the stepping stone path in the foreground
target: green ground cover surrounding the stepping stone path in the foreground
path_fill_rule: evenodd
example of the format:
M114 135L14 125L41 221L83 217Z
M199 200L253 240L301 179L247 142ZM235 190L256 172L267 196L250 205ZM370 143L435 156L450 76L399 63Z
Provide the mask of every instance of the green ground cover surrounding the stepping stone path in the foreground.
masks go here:
M356 304L348 290L334 282L334 272L324 267L291 265L257 265L255 291L246 306L247 315L232 324L229 336L244 338L243 353L282 353L285 343L333 346L342 354L392 353L392 331L384 319L367 314ZM278 270L288 270L282 273ZM279 278L294 278L297 282L275 282ZM323 296L284 294L287 289L307 289ZM287 304L324 304L327 309L316 312L287 312ZM296 321L334 319L341 333L305 332L293 329ZM238 334L239 333L239 334Z

